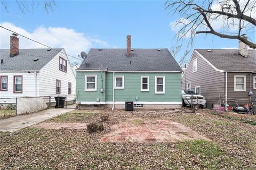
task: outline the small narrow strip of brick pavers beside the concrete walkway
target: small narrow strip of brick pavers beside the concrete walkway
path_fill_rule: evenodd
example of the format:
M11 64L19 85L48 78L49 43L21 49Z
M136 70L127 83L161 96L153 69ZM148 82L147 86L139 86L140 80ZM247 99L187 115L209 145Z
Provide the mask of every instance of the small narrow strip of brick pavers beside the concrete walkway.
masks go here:
M86 123L39 123L33 127L39 129L86 129Z

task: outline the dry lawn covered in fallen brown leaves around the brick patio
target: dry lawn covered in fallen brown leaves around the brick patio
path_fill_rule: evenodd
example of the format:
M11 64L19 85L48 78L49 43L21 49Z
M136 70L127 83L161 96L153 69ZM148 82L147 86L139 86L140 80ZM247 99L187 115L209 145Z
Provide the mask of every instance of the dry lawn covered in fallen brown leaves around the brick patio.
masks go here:
M110 115L105 130L26 128L0 133L0 169L256 169L253 118L210 111L74 111L47 122L90 123ZM99 143L110 126L130 117L171 118L211 139L166 143ZM231 117L231 118L230 118Z

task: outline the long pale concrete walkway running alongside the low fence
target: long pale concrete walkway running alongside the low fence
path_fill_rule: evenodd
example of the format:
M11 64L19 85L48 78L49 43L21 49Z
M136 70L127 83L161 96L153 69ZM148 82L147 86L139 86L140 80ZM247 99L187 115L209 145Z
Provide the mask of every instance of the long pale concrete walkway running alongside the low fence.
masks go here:
M0 120L0 131L2 132L14 132L28 126L43 122L49 118L58 116L63 113L67 113L74 110L75 105L70 105L67 109L65 108L50 108L44 111L39 111L27 115L18 115L15 117L5 118Z

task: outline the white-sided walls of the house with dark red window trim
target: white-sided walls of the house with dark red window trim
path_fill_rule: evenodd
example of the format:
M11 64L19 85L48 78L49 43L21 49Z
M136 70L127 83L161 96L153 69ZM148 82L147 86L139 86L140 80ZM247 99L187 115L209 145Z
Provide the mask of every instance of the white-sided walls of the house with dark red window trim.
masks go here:
M24 49L24 50L27 50L27 52L29 52L30 49ZM32 50L35 50L35 49L32 49ZM45 53L49 52L47 51L47 49L38 49L38 51L40 51L41 53L42 53L42 50L45 50ZM71 69L65 50L61 49L61 52L59 53L56 52L56 54L52 57L52 59L48 63L46 63L39 70L0 71L1 80L3 76L7 77L7 90L0 90L1 98L38 97L38 96L56 95L56 80L60 80L59 95L68 95L68 83L71 83L71 94L69 94L70 97L68 97L68 100L73 100L76 95L75 94L76 78L75 78L74 72ZM17 56L14 56L13 58L15 59L15 57L20 57L20 56L17 55ZM21 57L26 57L26 56L22 55ZM64 59L63 61L65 60L67 61L66 72L59 69L60 57ZM10 60L13 60L13 58L10 58ZM43 58L42 59L40 57L38 58L39 60L35 62L42 62L42 60L44 60ZM9 60L8 57L4 58L4 64L7 63L7 60ZM2 82L1 82L1 87L3 87Z

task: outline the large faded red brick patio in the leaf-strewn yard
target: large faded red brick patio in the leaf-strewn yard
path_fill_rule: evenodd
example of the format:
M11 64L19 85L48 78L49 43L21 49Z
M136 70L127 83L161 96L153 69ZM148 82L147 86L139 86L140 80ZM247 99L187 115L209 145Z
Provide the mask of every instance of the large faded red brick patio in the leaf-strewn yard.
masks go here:
M111 126L110 133L105 134L100 142L175 142L206 137L170 120L142 120L128 118Z

